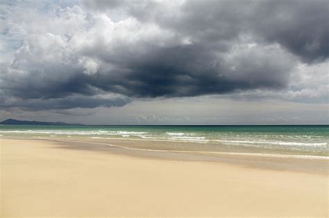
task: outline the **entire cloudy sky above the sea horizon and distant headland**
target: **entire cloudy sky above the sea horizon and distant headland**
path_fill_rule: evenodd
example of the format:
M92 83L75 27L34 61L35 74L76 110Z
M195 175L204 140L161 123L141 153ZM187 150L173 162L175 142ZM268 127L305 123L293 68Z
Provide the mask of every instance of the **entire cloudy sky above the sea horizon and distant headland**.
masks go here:
M329 124L329 1L0 2L0 120Z

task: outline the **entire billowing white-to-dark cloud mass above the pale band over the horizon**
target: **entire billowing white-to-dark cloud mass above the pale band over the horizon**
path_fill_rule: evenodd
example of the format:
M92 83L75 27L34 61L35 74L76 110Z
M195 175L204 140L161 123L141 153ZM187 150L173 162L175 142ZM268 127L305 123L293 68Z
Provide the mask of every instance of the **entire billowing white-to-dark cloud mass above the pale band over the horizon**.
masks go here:
M298 60L328 59L328 1L84 3L26 22L22 47L1 65L0 107L278 90ZM96 97L107 93L121 97Z

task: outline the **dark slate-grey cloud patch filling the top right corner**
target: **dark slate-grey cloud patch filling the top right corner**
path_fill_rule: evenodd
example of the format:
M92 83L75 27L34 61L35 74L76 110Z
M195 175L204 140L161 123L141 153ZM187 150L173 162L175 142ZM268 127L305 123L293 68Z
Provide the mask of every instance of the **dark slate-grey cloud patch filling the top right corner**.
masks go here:
M329 1L262 1L255 31L305 62L329 57Z

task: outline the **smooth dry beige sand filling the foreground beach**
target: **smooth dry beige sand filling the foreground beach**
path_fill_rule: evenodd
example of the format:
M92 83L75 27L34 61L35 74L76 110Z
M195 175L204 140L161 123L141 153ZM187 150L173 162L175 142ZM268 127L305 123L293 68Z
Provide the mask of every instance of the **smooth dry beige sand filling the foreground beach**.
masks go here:
M328 176L0 139L1 217L321 216Z

